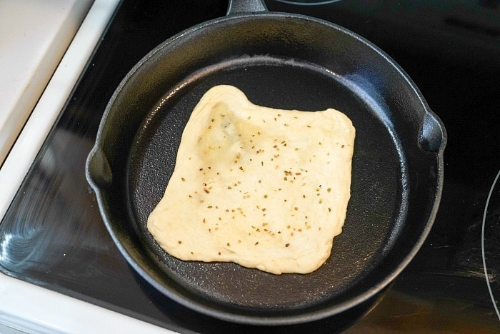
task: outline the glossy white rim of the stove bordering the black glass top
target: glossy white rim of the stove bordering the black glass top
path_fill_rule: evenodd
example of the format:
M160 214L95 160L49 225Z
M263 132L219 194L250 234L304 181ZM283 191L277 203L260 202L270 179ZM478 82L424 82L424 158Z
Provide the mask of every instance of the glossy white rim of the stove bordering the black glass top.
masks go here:
M120 0L95 0L0 169L3 217ZM1 247L1 245L0 245ZM0 273L0 324L28 333L173 333Z

